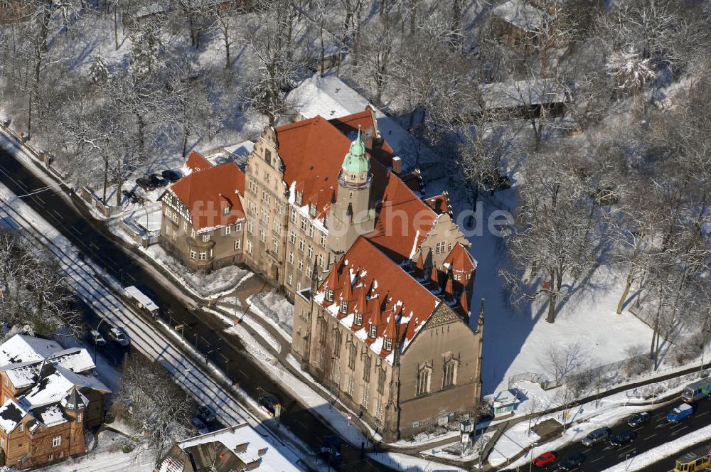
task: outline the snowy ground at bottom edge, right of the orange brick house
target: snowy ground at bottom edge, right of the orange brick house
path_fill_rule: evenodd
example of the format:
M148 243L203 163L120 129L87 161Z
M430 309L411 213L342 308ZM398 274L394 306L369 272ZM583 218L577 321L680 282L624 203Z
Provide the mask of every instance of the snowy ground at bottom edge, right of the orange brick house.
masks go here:
M139 445L134 451L124 453L126 439L114 431L101 431L96 449L85 456L69 458L61 463L35 469L41 472L151 472L155 464L155 451Z

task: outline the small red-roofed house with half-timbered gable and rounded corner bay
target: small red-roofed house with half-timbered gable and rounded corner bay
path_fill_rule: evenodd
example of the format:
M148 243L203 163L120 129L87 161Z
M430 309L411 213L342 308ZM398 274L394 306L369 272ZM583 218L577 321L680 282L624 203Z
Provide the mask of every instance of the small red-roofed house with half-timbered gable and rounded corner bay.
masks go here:
M242 262L245 173L234 162L213 165L192 151L186 174L161 195L161 246L191 269Z

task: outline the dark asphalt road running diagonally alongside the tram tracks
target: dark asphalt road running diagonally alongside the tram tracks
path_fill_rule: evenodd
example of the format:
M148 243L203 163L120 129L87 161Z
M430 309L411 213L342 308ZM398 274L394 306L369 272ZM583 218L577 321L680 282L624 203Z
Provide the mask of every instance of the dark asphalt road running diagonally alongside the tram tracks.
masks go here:
M45 183L0 148L0 182L16 195L26 195L23 200L37 213L43 215L58 231L68 238L87 259L105 267L107 272L121 280L124 285L149 286L156 304L161 307L161 314L170 316L173 323L185 325L184 336L196 348L213 360L216 365L228 370L230 380L237 382L251 397L257 398L259 392L270 392L282 402L281 422L292 433L312 448L321 444L324 436L333 432L315 414L301 407L287 390L272 380L245 355L245 348L237 336L228 336L222 332L223 326L214 316L199 311L191 311L173 296L164 284L170 281L159 280L151 272L124 252L121 242L111 234L102 222L85 218L77 208L83 203L74 195L75 205L70 206L58 195L58 190L47 188ZM43 190L44 189L44 190ZM83 210L83 208L82 208ZM162 277L161 277L162 279ZM105 324L105 323L104 323ZM95 326L92 326L95 328ZM104 328L104 326L102 326ZM103 331L103 330L102 330ZM109 348L111 357L120 353ZM360 471L384 470L382 466L368 459L360 458L360 450L344 444L342 470L357 468Z

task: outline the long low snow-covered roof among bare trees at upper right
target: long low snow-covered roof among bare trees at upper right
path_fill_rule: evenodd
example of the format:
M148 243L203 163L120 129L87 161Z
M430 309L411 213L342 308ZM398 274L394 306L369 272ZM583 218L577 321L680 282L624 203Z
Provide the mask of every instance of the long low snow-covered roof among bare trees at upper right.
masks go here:
M479 85L484 107L510 108L565 102L565 90L552 80L517 80Z

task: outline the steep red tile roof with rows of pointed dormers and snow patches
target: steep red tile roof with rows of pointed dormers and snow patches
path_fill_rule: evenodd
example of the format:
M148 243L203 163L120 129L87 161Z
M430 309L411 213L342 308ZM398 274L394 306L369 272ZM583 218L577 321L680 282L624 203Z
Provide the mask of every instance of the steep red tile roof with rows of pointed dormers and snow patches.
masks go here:
M368 288L369 298L365 299ZM335 303L326 301L326 289L334 291ZM342 298L348 301L347 315L338 312ZM319 287L316 301L353 329L356 336L366 340L383 358L390 355L383 350L383 336L388 333L394 336L396 323L400 325L400 341L406 347L440 303L437 296L365 237L359 237L341 260L333 264L328 277ZM359 311L364 303L363 325L353 326L353 313ZM368 335L370 324L378 328L375 340Z

